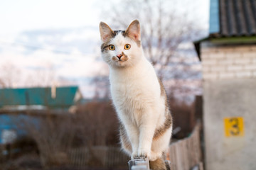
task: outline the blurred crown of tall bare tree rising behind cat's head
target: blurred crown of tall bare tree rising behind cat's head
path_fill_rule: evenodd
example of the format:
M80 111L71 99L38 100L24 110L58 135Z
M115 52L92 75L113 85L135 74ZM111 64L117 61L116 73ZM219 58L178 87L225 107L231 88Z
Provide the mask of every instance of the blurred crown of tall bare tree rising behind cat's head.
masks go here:
M179 45L191 40L198 30L196 22L191 21L188 13L175 8L175 4L175 1L126 0L114 4L110 17L115 26L123 27L127 27L127 21L139 18L145 55L156 67L159 78L164 78L163 71L170 63L174 64Z

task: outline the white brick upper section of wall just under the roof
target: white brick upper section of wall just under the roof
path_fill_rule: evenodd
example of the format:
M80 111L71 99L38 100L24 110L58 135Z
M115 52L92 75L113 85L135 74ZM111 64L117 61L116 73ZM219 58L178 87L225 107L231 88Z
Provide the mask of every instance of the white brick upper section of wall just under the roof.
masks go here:
M203 79L256 77L256 45L201 45Z

